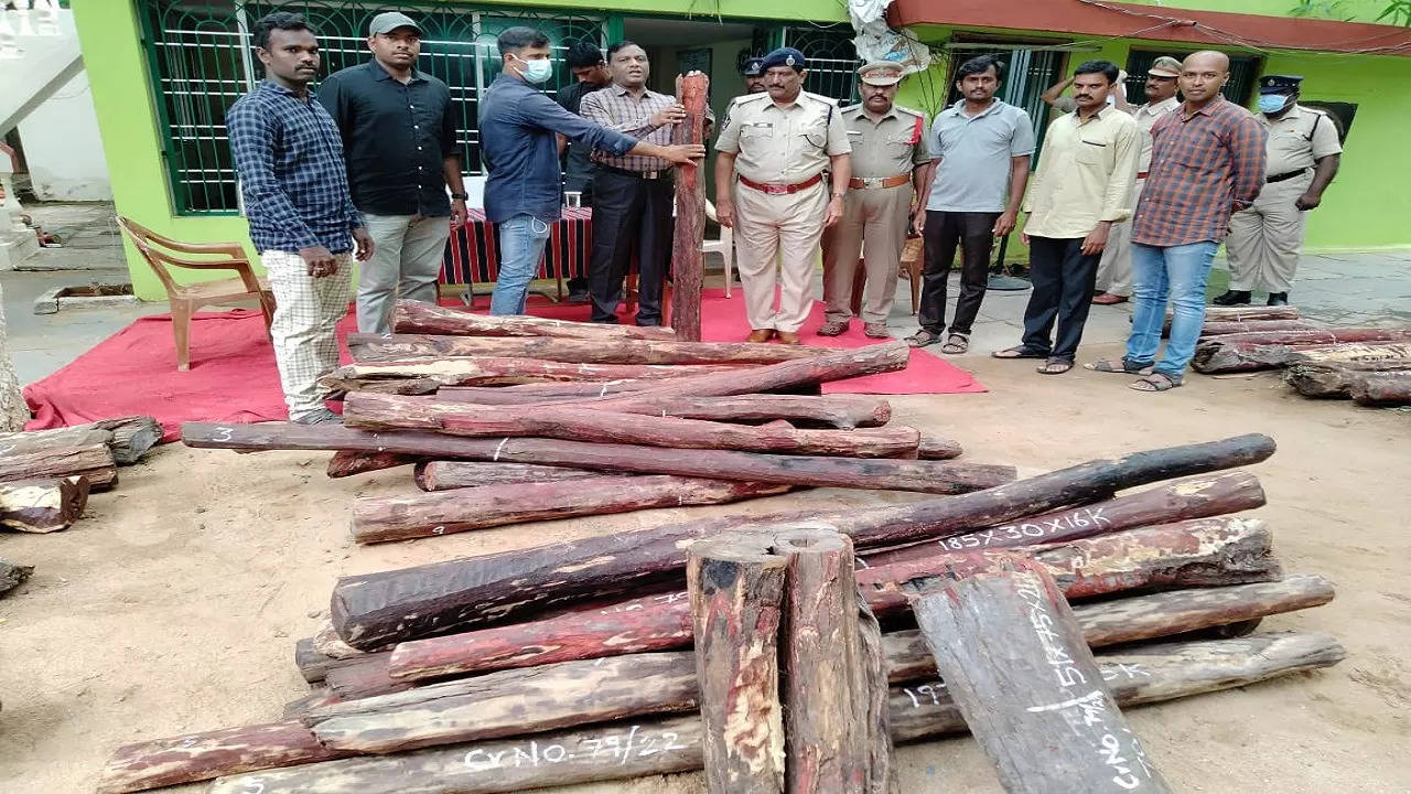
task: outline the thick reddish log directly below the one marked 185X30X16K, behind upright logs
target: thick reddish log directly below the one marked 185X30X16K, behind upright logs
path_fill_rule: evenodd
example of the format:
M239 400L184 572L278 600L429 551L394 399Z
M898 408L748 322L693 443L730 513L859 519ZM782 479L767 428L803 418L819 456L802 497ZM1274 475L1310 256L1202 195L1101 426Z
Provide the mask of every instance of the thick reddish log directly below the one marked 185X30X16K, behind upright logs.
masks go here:
M1184 521L1037 548L1036 559L1070 598L1132 589L1260 582L1280 576L1273 535L1254 519ZM969 565L935 550L926 559L856 571L864 602L880 616L907 609L903 586ZM639 596L563 615L398 644L388 660L394 680L430 680L577 658L676 650L691 643L684 592Z

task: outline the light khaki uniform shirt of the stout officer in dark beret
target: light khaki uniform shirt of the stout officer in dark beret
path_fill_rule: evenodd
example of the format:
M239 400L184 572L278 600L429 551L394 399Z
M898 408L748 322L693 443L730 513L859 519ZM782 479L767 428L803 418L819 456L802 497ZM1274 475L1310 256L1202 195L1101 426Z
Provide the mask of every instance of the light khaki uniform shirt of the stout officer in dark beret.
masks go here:
M838 107L806 90L787 107L768 93L735 99L715 148L737 153L741 177L769 185L809 181L828 167L830 155L852 151Z

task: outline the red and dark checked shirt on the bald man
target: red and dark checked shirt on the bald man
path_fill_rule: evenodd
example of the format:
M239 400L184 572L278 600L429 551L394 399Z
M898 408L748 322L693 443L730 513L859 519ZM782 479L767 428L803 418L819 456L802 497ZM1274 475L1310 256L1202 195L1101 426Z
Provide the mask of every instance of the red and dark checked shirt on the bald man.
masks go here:
M1264 138L1259 120L1226 99L1157 119L1132 242L1167 247L1223 240L1230 213L1264 186Z

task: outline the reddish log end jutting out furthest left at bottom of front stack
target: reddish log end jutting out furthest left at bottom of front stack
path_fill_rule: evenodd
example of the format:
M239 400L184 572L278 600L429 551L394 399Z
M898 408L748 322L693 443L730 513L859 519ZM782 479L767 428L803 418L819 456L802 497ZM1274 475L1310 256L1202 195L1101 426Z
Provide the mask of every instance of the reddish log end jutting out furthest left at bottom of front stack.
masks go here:
M144 791L347 754L319 745L313 733L296 721L224 728L124 745L103 767L97 791Z

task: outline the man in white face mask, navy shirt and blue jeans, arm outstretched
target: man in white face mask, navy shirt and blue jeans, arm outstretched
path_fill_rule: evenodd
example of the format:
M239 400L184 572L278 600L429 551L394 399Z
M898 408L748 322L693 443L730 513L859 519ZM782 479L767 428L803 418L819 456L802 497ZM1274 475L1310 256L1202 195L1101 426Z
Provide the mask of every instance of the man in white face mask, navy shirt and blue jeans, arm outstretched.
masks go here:
M538 88L553 76L549 37L512 27L497 44L504 72L481 100L480 136L488 174L485 218L499 232L499 274L490 314L509 315L525 311L529 281L563 203L555 133L614 155L642 154L687 167L706 155L706 147L639 141L574 116Z

